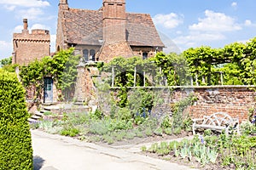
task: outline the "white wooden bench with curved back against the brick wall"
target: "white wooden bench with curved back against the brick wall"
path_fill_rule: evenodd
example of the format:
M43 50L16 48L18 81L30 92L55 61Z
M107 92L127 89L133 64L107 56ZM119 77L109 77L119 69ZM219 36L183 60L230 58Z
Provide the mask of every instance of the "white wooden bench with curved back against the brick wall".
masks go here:
M228 135L230 129L236 130L239 133L239 120L232 118L224 112L213 113L211 116L203 116L200 119L193 119L193 134L195 129L211 129L214 131L222 132L223 130Z

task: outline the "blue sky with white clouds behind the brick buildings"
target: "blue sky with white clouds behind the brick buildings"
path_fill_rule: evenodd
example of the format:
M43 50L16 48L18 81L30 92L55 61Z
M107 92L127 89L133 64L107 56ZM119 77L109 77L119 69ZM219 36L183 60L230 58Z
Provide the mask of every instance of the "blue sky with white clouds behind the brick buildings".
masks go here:
M0 0L0 59L12 54L12 34L29 29L47 29L55 50L59 0ZM98 9L102 0L69 0L70 8ZM167 48L182 52L187 48L222 48L231 42L247 42L256 37L255 0L126 0L126 11L151 14L164 35Z

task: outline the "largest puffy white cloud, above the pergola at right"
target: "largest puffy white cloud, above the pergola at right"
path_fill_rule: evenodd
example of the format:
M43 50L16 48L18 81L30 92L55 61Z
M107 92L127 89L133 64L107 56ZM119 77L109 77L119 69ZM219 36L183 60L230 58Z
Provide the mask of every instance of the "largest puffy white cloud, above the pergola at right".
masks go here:
M211 10L205 11L206 18L198 19L199 23L189 26L191 31L238 31L241 26L236 24L236 20L223 13L215 13Z

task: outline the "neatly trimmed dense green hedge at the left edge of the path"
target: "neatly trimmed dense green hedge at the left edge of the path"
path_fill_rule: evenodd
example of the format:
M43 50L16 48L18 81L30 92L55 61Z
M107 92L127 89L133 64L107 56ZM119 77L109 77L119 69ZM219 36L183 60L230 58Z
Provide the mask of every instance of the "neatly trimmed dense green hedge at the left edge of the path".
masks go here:
M15 73L0 69L0 169L32 170L32 139L25 90Z

